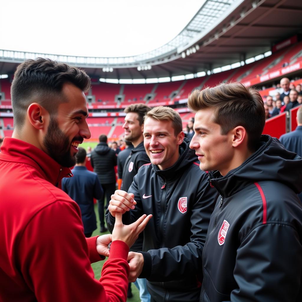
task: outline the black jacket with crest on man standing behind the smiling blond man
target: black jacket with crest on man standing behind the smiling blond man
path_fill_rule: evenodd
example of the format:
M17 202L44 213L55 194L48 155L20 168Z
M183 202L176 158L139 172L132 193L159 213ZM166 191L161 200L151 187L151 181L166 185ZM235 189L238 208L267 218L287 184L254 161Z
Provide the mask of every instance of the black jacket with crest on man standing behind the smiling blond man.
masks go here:
M146 153L144 142L142 141L138 146L131 150L130 155L126 159L123 168L121 190L128 192L134 176L137 175L138 169L149 162L150 159Z

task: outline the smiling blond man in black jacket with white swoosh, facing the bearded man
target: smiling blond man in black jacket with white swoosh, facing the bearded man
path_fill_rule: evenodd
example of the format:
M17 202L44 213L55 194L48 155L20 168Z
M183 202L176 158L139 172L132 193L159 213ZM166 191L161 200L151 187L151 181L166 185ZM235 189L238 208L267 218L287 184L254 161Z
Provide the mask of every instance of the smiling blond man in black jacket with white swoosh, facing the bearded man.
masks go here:
M142 252L128 256L130 281L147 278L151 301L197 302L202 249L218 193L195 162L176 111L162 106L148 111L143 134L152 165L139 169L129 193L115 191L108 207L108 228L112 230L116 212L123 213L125 224L140 213L152 213Z

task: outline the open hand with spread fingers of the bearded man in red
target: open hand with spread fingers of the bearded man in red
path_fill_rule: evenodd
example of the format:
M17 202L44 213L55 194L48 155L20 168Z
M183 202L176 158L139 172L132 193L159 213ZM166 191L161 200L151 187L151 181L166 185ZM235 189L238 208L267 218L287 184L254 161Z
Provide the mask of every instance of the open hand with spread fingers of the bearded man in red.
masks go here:
M112 241L122 240L129 247L133 245L138 235L144 230L152 215L144 214L137 221L124 225L122 222L122 212L115 213L114 229L112 231Z

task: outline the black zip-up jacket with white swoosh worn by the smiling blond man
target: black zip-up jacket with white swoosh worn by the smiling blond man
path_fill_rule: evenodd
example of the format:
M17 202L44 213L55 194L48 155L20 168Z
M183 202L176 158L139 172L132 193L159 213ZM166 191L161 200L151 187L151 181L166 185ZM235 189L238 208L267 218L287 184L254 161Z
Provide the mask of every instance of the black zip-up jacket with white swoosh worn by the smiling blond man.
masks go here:
M143 165L128 192L136 208L123 215L125 224L153 214L143 234L144 267L140 278L156 301L198 301L202 281L202 249L218 193L207 173L194 162L188 140L169 169ZM108 228L114 217L108 215Z

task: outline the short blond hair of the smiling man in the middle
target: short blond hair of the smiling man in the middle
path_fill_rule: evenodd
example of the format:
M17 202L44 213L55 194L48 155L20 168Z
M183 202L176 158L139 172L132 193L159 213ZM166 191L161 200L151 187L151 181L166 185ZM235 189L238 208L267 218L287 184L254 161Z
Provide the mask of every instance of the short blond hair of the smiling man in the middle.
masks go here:
M174 135L182 132L182 118L179 113L170 107L158 106L152 108L144 116L144 122L148 117L154 118L155 120L172 120L174 128Z

